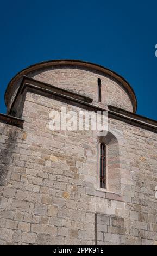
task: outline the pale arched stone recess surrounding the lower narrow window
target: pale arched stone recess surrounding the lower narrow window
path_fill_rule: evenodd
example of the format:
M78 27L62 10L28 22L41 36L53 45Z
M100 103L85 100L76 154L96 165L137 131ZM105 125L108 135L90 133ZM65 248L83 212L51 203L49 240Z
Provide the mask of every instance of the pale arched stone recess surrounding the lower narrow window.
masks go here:
M106 136L99 136L98 133L97 188L104 188L107 191L121 194L122 184L119 142L123 143L122 135L112 130L109 131L109 127ZM102 145L105 154L101 152ZM102 168L103 164L104 169ZM102 181L104 181L103 184Z

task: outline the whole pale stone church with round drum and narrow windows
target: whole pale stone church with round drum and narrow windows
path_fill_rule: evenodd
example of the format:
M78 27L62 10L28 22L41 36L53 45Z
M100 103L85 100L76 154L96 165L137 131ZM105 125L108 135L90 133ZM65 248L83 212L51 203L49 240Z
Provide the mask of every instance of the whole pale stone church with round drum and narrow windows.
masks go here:
M122 76L80 60L41 62L12 78L5 104L1 245L157 245L157 121L136 114ZM50 129L62 108L105 112L107 131Z

